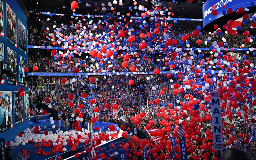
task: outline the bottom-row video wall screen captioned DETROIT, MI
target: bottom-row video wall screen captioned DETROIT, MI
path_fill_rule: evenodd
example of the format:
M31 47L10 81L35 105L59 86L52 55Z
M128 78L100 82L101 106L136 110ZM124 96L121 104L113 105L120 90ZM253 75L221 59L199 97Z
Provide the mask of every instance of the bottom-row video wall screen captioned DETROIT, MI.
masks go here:
M0 91L0 133L12 128L12 92Z

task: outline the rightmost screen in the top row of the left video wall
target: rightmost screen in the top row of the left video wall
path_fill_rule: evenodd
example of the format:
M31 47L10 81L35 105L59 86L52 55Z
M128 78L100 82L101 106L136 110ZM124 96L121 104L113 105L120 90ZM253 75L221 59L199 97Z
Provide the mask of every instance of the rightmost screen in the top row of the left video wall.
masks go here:
M26 28L19 19L19 50L26 53Z

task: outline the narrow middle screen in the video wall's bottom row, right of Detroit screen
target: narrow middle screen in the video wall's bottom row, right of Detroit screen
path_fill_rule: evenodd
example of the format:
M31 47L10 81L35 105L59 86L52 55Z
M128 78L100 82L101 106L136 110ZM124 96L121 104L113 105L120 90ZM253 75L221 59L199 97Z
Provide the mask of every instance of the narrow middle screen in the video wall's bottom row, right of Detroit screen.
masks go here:
M14 110L15 110L15 125L23 122L23 97L20 97L20 93L14 92Z

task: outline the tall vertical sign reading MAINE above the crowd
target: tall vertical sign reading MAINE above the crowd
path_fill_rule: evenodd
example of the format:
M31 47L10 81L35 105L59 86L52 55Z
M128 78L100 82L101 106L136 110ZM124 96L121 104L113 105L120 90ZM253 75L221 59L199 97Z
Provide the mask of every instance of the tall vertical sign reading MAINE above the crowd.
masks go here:
M213 148L223 150L221 111L220 111L220 92L211 92L212 101L212 129L213 129Z

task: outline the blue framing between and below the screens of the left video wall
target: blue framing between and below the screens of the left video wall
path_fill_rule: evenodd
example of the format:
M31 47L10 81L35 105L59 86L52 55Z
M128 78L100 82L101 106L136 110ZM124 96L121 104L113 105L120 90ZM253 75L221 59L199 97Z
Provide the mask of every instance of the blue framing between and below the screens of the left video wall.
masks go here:
M6 3L10 6L10 8L12 9L12 11L16 14L16 28L17 28L17 48L11 44L9 41L7 41L7 15L6 15ZM21 122L20 124L15 125L15 109L13 108L14 105L14 91L18 91L18 89L20 88L20 83L19 83L19 61L20 61L20 56L22 56L23 58L26 59L26 63L28 65L28 50L26 47L26 54L21 52L19 50L19 20L22 22L22 24L25 26L26 28L26 36L27 36L27 32L28 32L28 18L26 17L25 13L23 12L23 10L20 8L20 5L18 4L18 2L16 0L4 0L4 37L0 36L0 43L4 44L4 62L7 63L7 47L9 47L10 49L12 49L14 52L17 53L17 86L16 85L9 85L7 84L7 77L5 76L4 78L4 84L0 84L0 91L12 91L12 128L9 130L6 130L2 133L0 133L0 137L1 138L5 138L5 141L8 140L14 140L15 136L17 136L18 132L22 132L25 129L28 128L29 126L29 120L26 119L25 120L25 108L24 108L24 96L23 96L23 122ZM26 37L26 44L28 44L27 42L27 37ZM27 87L24 87L24 92L28 92L28 84Z

